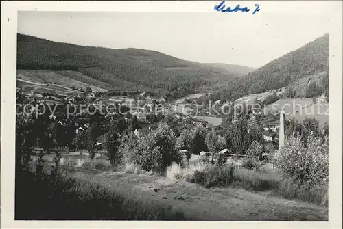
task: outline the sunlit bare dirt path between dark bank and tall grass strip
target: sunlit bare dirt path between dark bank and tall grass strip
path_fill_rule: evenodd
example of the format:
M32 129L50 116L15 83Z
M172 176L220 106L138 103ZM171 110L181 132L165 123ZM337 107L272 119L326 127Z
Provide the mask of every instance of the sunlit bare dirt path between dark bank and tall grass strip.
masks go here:
M260 195L230 188L205 189L184 181L158 176L102 172L77 172L74 176L92 177L119 191L134 191L161 205L180 208L189 219L220 221L327 221L328 209L322 206Z

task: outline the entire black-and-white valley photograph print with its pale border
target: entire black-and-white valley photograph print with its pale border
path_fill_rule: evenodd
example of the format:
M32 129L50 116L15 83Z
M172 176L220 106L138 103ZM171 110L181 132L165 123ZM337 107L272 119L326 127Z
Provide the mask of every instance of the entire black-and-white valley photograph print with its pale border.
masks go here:
M14 221L328 222L333 7L267 3L19 10Z

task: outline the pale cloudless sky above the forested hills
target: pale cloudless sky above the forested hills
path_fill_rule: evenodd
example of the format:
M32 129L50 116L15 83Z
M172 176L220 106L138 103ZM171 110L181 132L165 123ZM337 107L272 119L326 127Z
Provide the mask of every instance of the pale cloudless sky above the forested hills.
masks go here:
M260 12L259 12L260 13ZM48 40L160 51L259 68L329 32L323 14L18 12L18 32Z

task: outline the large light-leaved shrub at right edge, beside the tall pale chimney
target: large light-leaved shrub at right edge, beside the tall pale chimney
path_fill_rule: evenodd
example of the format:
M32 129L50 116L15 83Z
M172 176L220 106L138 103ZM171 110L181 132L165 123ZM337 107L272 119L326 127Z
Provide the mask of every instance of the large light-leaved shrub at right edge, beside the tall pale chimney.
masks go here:
M305 144L300 137L291 137L276 157L276 165L286 178L311 187L323 185L329 179L329 140L314 137Z

